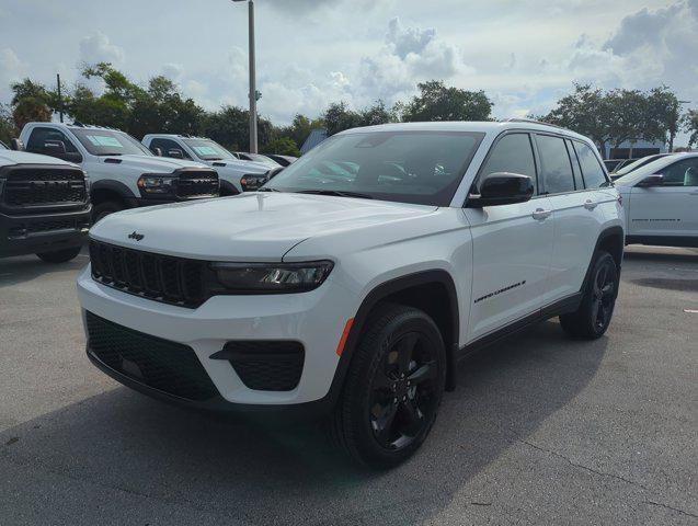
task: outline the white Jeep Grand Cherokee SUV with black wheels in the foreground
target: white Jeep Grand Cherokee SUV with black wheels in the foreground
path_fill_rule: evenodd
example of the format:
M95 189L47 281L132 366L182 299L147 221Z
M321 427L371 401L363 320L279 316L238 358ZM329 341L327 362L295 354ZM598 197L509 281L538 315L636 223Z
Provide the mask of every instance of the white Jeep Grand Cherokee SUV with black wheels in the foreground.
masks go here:
M150 396L331 414L389 467L455 364L560 316L610 322L622 210L593 144L531 122L337 134L256 193L114 214L78 279L90 359Z

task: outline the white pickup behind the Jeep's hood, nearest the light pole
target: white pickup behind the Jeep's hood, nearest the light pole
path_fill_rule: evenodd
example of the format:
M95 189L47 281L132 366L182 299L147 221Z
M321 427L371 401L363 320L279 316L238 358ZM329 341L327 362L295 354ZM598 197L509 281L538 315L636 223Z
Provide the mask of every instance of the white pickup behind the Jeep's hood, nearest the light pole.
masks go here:
M256 190L266 182L267 164L241 161L218 142L188 135L148 134L142 144L153 153L208 164L218 172L220 195L237 195Z

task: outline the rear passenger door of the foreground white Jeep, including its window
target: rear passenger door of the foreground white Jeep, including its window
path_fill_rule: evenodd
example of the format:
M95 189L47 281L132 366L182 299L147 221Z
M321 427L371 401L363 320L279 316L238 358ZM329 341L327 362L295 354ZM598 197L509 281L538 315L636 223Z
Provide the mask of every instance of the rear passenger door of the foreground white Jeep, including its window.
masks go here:
M554 219L548 290L543 297L543 306L549 306L582 288L604 221L595 190L584 184L575 148L583 152L585 160L591 155L597 171L604 172L594 153L583 142L575 141L573 146L572 141L561 136L536 134L536 145L542 191L550 201Z

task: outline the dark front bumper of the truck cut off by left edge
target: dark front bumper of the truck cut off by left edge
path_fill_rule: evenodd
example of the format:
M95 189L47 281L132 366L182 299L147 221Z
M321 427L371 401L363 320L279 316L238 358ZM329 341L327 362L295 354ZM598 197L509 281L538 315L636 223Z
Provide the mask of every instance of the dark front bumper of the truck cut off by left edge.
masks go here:
M0 214L0 258L79 247L90 227L91 206L77 211Z

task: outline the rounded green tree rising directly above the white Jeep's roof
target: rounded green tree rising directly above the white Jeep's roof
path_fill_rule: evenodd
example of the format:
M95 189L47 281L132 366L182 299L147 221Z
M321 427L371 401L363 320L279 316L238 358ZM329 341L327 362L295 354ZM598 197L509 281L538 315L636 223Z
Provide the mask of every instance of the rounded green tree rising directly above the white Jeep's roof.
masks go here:
M404 122L490 121L493 103L484 91L447 88L440 80L417 84L420 93L399 106Z

